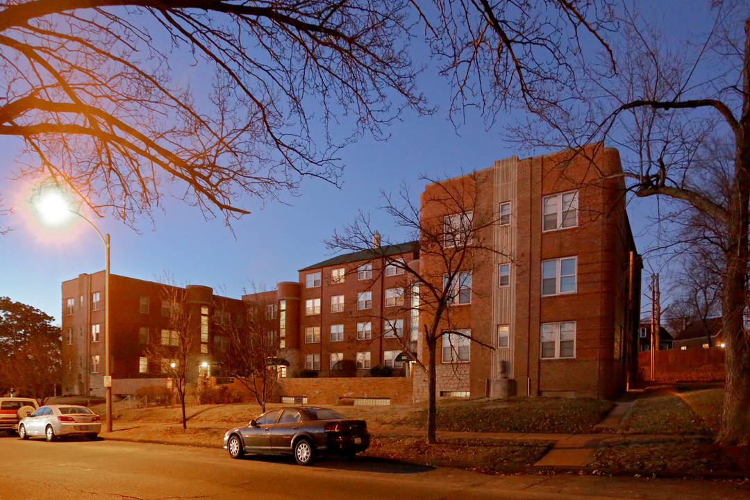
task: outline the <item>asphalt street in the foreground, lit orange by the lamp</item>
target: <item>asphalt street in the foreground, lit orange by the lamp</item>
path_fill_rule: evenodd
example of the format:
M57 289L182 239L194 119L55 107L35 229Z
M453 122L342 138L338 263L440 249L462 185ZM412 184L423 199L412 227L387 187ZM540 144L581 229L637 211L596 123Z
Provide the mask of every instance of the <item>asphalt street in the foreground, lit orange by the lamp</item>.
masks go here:
M483 475L356 457L284 457L100 440L0 438L1 500L89 499L750 499L750 484L579 475Z

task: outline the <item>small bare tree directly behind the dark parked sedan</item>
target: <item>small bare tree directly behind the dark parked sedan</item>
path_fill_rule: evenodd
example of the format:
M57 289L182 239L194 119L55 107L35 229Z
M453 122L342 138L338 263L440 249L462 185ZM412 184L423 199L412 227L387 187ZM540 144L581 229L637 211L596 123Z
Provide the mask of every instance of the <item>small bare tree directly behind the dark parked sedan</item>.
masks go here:
M254 293L245 300L242 316L226 322L223 334L229 338L223 360L223 373L245 385L266 412L282 363L278 338L278 304L276 292L253 286Z

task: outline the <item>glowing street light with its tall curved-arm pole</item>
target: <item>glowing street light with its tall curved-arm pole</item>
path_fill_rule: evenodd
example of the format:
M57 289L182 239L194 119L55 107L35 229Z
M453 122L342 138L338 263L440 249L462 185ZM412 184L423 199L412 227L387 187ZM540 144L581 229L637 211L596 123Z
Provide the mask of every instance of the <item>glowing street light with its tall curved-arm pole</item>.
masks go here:
M89 223L104 243L104 388L107 391L107 432L112 432L112 370L110 367L110 235L101 234L97 226L80 212L71 209L68 200L56 190L48 190L35 203L37 211L47 223L61 224L71 214Z

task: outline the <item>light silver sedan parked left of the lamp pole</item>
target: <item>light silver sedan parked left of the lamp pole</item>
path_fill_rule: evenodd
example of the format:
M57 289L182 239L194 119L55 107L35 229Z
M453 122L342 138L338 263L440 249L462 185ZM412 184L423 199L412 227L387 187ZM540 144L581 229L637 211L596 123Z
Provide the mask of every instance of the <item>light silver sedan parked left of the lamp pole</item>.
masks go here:
M45 438L55 441L60 436L86 436L97 439L101 431L101 417L86 406L46 405L22 418L18 423L18 436Z

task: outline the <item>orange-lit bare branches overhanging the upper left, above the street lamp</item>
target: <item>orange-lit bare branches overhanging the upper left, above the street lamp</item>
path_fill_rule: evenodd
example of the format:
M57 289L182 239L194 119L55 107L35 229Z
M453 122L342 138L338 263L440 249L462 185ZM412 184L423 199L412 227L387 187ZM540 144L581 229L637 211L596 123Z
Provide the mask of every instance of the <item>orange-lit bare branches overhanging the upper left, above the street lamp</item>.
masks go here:
M0 135L21 175L128 223L166 194L227 222L336 182L342 145L428 112L406 1L0 2ZM190 81L192 80L192 81ZM169 188L168 186L173 186Z

